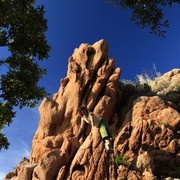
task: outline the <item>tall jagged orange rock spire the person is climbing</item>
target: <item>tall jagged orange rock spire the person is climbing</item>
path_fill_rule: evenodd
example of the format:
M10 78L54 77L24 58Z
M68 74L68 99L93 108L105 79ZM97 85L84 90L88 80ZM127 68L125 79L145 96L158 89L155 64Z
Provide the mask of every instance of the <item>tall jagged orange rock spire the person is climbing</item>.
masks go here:
M80 123L77 109L81 104L86 105L88 109L107 121L111 121L120 99L120 90L118 89L120 69L114 67L114 60L108 58L107 50L108 45L104 40L100 40L92 46L82 44L75 49L74 54L69 58L67 77L61 80L58 93L54 95L53 99L44 99L40 105L41 120L33 139L30 158L32 163L38 163L34 169L33 179L37 177L48 179L50 176L57 176L59 169L70 163L72 156L82 144L82 140L78 142L75 138ZM90 128L88 127L85 136L89 132ZM72 142L73 137L74 141ZM93 139L90 133L84 142L88 144L89 148L82 150L84 143L80 146L71 163L69 177L75 178L84 175L84 177L90 178L92 174L93 176L96 174L98 161L101 159L104 163L107 160L106 153L103 153L100 136L97 137ZM82 138L84 139L84 137ZM95 153L92 153L94 144L93 151ZM58 157L56 156L58 160L47 156L52 153L52 149L60 150ZM92 158L92 160L88 159L89 162L85 161L87 155ZM79 156L83 157L82 161ZM54 164L57 169L49 164ZM78 167L81 168L81 171L77 172L76 164L80 164ZM105 167L108 168L107 165ZM89 168L91 169L90 173L88 173ZM103 166L98 172L96 177L108 176L103 173ZM65 176L64 170L62 174ZM66 175L66 177L68 176ZM60 175L58 178L61 178Z

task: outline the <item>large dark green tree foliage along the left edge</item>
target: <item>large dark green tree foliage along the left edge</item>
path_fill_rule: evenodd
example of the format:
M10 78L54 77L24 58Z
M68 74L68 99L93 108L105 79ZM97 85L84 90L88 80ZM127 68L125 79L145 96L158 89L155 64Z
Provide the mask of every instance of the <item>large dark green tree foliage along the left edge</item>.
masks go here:
M38 85L46 74L38 61L47 59L50 51L44 14L44 6L35 6L34 0L0 0L0 47L10 52L0 57L0 149L9 146L2 130L15 117L14 107L34 107L47 95Z

